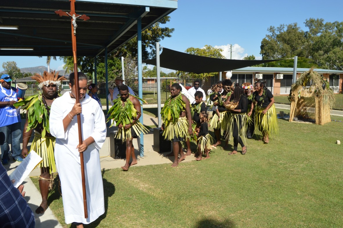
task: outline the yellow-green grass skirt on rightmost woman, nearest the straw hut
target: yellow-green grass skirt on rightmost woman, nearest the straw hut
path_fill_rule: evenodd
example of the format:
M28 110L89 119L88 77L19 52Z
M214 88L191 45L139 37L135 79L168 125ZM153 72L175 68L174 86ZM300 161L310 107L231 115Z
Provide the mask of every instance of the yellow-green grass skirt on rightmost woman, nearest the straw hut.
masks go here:
M255 109L255 132L259 131L262 135L278 135L279 126L277 125L276 110L274 104L267 110L265 115L262 114L265 108L256 106ZM254 133L255 133L254 132Z

